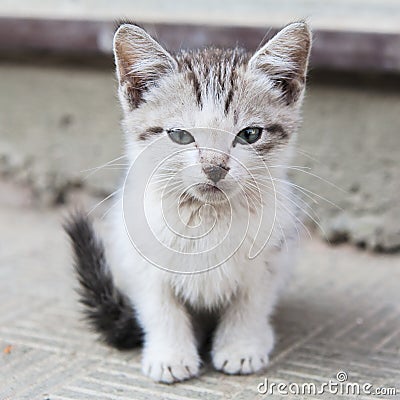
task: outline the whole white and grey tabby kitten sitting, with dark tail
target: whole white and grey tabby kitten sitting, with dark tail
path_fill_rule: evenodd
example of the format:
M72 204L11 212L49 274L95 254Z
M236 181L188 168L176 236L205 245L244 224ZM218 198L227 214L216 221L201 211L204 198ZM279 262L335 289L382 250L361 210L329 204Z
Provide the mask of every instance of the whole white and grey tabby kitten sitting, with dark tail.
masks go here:
M295 257L285 166L310 46L302 22L254 54L172 55L135 25L115 34L130 168L110 218L110 263L87 217L66 230L92 326L117 348L143 344L143 372L155 381L199 374L207 313L217 370L268 364L269 317Z

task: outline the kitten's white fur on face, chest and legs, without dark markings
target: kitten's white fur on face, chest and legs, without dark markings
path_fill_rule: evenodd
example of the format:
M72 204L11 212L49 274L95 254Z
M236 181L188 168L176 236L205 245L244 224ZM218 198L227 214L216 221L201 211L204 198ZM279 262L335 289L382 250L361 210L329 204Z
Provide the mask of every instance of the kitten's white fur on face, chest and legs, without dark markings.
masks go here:
M300 25L290 29L304 30L304 24ZM290 44L294 33L286 29ZM148 65L151 68L147 59L154 56L151 48L159 45L140 28L123 26L116 40L126 39L121 32L125 36L129 32L130 51L136 57L132 62L142 62L142 72ZM140 57L136 36L140 43L147 43ZM282 33L279 40L283 40ZM199 343L189 310L219 315L212 344L216 369L248 374L268 364L274 345L269 317L295 256L296 207L285 183L284 165L290 160L302 100L283 106L278 89L258 69L259 58L268 54L268 46L272 48L273 43L256 53L237 76L240 93L233 108L240 105L243 110L237 121L233 112L224 114L223 105L212 93L203 98L202 109L197 107L188 83L179 73L168 72L175 68L175 61L166 61L167 72L157 87L145 94L138 109L129 108L119 76L126 154L133 167L110 219L113 230L108 250L116 284L129 296L145 331L143 372L156 381L170 383L199 373ZM164 50L157 52L169 57ZM291 68L293 60L290 55L286 58L282 68ZM117 57L117 65L118 61ZM135 68L140 70L141 65ZM240 129L277 121L282 121L292 136L287 145L269 156L271 168L266 169L246 146L232 146ZM184 146L173 143L165 131L147 141L138 140L137 136L152 126L190 130L196 143L181 152ZM229 201L204 199L194 189L189 191L189 201L178 206L182 188L207 181L201 170L204 159L217 162L224 157L231 169L220 183ZM167 175L172 179L171 187L178 185L176 191L160 190L162 172L152 176L160 161L173 172ZM256 171L257 166L263 168L254 178L261 179L259 197L249 203L237 183L248 181L249 169ZM209 205L204 206L206 203ZM178 234L173 234L171 227ZM195 240L187 238L196 235Z

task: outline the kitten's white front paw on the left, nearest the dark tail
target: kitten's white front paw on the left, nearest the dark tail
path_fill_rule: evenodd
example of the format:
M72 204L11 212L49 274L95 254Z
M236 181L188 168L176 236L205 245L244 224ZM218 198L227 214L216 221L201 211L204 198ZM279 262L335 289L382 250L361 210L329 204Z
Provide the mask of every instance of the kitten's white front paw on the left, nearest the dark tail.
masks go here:
M142 370L156 382L174 383L197 376L200 364L196 349L150 347L144 350Z

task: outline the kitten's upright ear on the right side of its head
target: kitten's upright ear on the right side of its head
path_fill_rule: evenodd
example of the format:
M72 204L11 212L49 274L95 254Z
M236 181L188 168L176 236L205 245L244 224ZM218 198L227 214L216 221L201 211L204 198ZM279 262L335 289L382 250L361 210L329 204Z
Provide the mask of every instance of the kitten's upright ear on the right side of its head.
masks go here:
M249 67L265 73L281 89L287 105L300 99L307 74L311 31L295 22L275 35L250 59Z

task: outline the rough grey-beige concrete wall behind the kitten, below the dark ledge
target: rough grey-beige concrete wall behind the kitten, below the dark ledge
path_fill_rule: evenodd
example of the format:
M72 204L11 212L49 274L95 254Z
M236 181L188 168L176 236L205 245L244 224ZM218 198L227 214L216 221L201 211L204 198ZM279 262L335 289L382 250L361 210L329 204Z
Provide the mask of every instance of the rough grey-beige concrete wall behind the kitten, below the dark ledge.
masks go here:
M316 193L316 202L305 199L323 237L393 251L400 248L399 78L343 80L311 75L293 162L310 170L292 170L294 179ZM111 65L3 62L0 87L1 175L46 204L75 185L114 190L121 167L86 171L122 154Z

